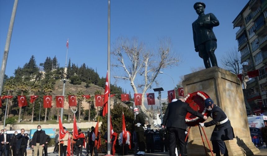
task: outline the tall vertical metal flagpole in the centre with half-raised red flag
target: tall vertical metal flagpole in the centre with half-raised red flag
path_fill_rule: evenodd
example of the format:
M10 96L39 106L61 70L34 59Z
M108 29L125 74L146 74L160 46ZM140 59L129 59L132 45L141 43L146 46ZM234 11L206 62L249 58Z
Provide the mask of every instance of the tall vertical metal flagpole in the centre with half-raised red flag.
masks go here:
M107 45L107 70L108 70L108 87L110 87L110 0L108 0L108 45ZM110 93L107 102L107 154L111 154L110 145Z

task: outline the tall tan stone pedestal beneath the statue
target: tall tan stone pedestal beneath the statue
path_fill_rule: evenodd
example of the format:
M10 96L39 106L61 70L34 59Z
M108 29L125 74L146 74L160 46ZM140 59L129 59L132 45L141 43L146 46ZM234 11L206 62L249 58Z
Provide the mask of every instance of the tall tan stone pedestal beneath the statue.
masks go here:
M260 153L251 141L242 85L236 75L219 67L211 67L185 75L183 89L185 95L196 91L207 93L228 116L235 134L234 140L225 141L230 156ZM214 127L204 127L208 140ZM204 140L209 151L205 137ZM191 127L188 143L188 155L206 155L198 127Z

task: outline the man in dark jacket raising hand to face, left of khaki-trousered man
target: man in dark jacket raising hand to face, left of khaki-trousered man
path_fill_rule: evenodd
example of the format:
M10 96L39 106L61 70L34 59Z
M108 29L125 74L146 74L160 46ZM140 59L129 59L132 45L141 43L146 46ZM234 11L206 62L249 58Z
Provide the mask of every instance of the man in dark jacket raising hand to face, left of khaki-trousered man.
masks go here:
M16 144L16 155L17 156L23 156L27 147L27 143L29 140L29 137L25 135L25 129L20 130L20 134L18 134L17 137L17 144Z

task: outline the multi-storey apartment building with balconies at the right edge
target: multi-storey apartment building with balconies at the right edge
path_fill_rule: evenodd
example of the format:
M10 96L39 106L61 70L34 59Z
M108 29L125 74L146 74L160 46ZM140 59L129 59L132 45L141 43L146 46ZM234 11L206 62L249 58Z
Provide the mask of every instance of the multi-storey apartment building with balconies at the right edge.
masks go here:
M238 27L236 40L245 72L259 70L259 76L247 82L245 98L251 114L267 109L267 0L250 0L233 21Z

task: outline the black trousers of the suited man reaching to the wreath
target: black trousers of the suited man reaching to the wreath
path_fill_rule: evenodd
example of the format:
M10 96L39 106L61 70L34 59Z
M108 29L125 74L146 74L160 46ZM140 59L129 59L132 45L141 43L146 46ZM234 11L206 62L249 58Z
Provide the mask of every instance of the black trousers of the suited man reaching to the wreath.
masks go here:
M185 145L185 129L169 127L169 142L170 142L170 156L176 156L175 147L178 141L179 151L182 156L187 155L186 145Z

